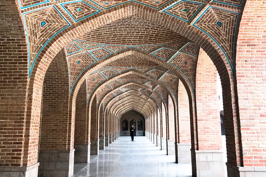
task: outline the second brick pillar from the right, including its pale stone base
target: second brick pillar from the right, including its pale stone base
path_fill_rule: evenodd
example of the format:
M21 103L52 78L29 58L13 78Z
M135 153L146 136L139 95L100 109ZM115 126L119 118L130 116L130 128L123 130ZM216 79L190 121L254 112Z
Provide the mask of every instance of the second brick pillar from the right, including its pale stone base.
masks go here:
M197 177L224 175L216 79L213 62L200 49L196 73L198 149L191 151L192 175Z

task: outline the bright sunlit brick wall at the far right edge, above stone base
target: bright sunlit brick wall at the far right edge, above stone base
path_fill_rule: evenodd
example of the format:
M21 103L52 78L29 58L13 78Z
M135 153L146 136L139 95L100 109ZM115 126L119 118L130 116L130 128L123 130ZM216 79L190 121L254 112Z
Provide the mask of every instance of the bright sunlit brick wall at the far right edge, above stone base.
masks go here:
M266 166L265 9L265 1L246 1L237 41L236 78L244 166Z

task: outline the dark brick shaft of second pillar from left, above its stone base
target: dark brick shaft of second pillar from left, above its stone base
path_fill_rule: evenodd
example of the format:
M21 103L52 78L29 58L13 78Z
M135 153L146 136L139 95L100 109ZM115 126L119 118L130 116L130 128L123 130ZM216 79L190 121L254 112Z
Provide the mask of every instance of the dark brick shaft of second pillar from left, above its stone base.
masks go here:
M43 81L40 150L67 150L69 74L64 50L51 62Z

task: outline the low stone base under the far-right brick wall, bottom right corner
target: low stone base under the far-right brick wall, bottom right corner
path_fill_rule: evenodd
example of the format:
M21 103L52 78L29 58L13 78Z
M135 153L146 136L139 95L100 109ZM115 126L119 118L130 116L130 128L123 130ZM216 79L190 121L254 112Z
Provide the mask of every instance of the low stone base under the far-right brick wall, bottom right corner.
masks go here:
M226 166L228 177L266 177L266 167L239 167L229 163Z

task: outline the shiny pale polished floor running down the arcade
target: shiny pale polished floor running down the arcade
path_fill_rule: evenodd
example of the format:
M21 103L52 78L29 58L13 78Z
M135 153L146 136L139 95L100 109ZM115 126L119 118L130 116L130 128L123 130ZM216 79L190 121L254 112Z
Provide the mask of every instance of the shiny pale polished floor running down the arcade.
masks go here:
M191 177L191 164L176 164L174 155L166 155L146 137L119 137L90 163L74 164L73 177Z

